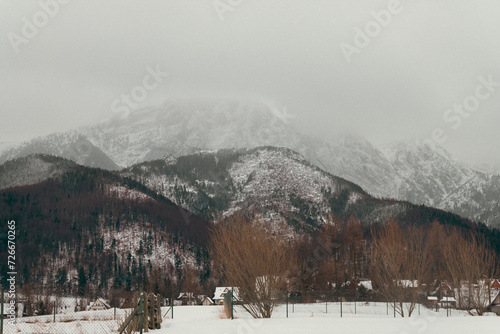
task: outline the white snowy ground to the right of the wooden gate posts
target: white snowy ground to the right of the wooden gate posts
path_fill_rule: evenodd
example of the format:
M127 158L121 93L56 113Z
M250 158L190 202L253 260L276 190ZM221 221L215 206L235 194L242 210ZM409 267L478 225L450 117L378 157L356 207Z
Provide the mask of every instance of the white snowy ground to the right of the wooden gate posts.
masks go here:
M185 306L177 307L174 319L164 319L161 330L154 333L204 333L204 334L304 334L304 333L369 333L369 334L411 334L411 333L500 333L500 317L472 317L452 311L446 316L446 310L434 312L420 309L411 318L394 318L393 310L383 303L370 305L344 303L343 315L340 317L340 305L325 303L289 305L289 318L286 318L285 307L280 307L271 319L250 319L240 308L236 308L235 320L221 319L222 307Z

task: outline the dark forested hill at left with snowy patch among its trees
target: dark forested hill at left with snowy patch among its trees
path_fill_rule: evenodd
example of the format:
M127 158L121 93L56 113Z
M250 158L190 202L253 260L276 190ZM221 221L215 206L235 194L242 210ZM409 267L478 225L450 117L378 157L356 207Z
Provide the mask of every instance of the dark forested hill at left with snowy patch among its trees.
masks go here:
M16 163L27 169L33 161L69 168L41 183L0 191L0 219L16 222L21 286L95 296L143 285L170 294L170 282L189 266L208 277L207 220L108 171L54 157ZM6 273L7 247L2 249Z

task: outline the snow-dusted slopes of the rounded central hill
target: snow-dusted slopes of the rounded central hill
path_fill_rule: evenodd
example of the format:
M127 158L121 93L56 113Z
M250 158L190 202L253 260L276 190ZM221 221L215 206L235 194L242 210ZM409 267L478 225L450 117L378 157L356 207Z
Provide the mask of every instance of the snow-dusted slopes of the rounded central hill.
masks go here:
M300 154L275 147L146 162L123 174L207 218L254 209L265 218L281 217L305 228L321 224L343 190L347 195L343 209L367 196L358 186L312 166Z

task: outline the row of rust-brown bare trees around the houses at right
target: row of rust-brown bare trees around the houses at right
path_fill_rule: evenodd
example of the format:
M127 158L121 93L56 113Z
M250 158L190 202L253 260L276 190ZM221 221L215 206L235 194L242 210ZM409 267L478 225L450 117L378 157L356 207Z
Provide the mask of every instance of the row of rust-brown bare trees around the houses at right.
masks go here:
M344 220L332 214L318 231L297 242L289 289L301 302L347 298L423 303L443 282L459 288L500 274L500 256L489 232L438 220L364 226L354 215ZM359 285L361 281L369 281L374 290ZM401 290L398 281L418 286Z

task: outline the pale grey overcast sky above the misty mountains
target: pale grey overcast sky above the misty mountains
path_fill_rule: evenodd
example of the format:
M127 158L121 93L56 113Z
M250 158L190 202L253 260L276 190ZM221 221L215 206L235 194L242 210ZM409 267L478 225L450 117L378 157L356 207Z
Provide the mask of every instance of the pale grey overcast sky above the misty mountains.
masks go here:
M0 0L0 142L109 117L149 67L170 76L139 107L252 97L312 134L437 131L459 159L500 165L500 84L483 83L500 83L498 0L59 2Z

